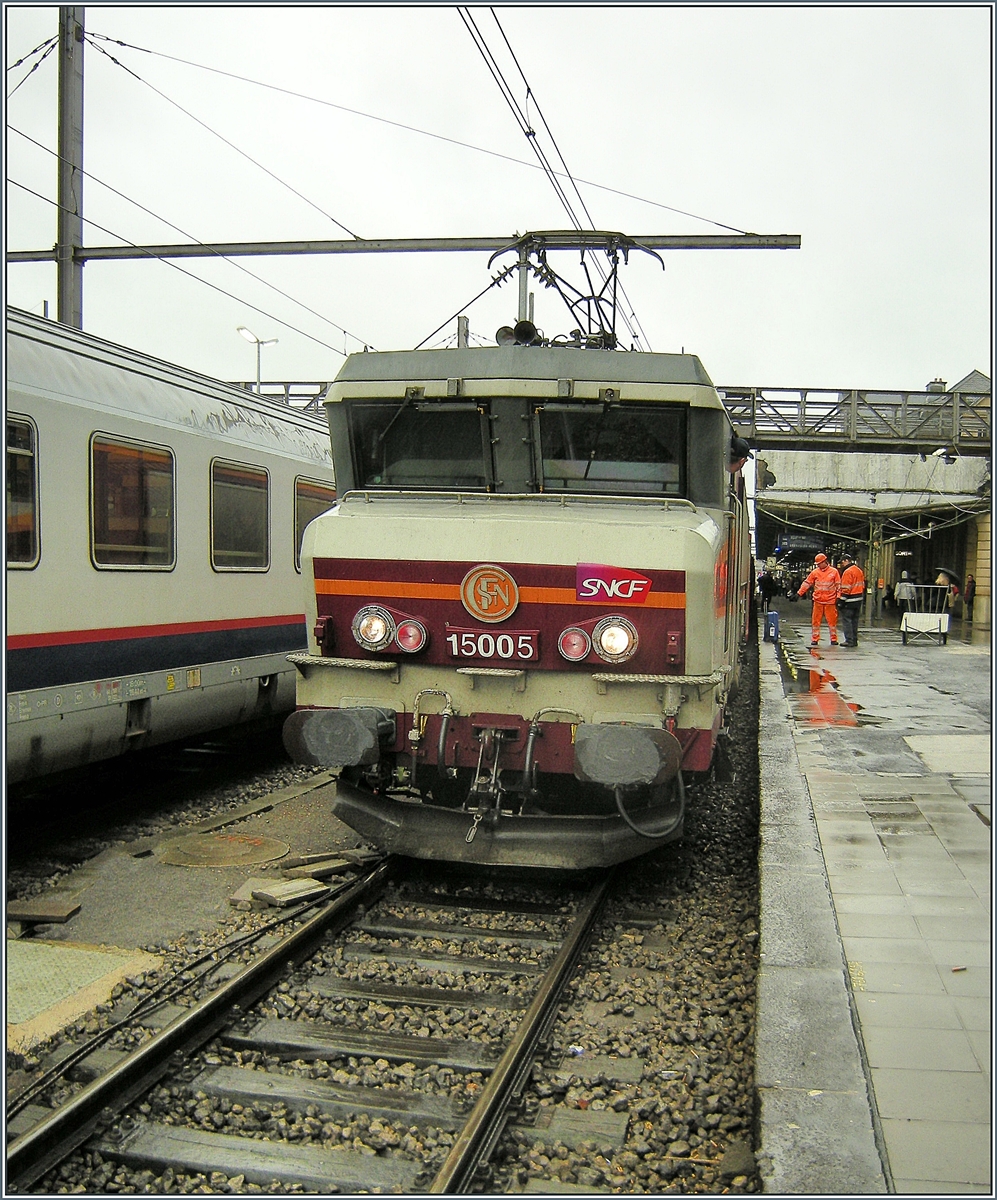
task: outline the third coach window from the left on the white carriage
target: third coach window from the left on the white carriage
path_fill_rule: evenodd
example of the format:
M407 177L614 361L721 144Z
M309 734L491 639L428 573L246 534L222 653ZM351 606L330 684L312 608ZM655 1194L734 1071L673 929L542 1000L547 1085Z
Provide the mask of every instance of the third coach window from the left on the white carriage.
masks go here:
M216 571L270 566L270 478L262 467L211 463L211 565Z

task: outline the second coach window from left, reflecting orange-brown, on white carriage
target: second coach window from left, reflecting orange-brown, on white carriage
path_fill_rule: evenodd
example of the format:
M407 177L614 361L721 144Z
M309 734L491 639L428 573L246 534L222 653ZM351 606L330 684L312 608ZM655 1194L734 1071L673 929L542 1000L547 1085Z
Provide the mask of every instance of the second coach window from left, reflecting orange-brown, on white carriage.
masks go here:
M94 565L170 570L175 564L172 451L98 433L90 449Z

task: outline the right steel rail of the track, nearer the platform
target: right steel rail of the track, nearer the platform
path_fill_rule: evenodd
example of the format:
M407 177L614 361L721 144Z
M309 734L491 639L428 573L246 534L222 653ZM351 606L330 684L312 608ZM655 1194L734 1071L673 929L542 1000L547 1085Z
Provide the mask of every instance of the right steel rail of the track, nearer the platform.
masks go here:
M428 1187L430 1194L469 1194L475 1170L501 1132L509 1100L529 1070L533 1052L548 1024L553 1020L561 990L571 978L585 940L606 900L614 874L614 871L608 871L603 875L585 898L564 944L543 976L540 989L527 1009L516 1036L496 1063L488 1082L472 1109L464 1128L454 1142L446 1162Z

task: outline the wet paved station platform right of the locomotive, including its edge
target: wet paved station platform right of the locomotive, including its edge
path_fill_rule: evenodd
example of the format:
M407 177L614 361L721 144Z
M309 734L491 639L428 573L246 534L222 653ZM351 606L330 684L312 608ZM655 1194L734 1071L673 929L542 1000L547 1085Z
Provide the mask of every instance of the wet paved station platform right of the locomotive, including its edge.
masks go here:
M759 1163L781 1194L992 1194L991 653L762 644ZM804 666L805 665L805 666Z

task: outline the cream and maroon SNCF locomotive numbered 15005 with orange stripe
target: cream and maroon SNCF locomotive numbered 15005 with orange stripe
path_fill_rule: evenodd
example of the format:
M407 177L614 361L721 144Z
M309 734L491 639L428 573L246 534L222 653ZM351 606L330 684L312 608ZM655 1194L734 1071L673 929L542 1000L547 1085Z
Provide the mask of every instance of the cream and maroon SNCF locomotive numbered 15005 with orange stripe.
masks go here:
M750 612L734 439L689 354L365 353L325 401L284 744L418 858L579 869L678 836ZM537 342L540 344L537 344Z

